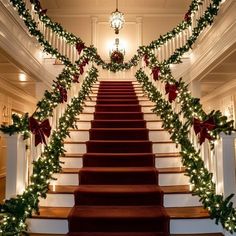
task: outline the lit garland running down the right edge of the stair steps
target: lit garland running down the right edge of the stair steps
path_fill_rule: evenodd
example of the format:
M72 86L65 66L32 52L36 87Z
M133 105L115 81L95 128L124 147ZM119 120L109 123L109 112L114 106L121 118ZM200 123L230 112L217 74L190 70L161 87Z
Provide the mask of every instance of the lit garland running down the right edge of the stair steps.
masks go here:
M230 202L233 194L223 199L222 195L215 194L215 183L212 181L212 173L204 167L204 162L199 151L195 150L188 138L189 124L179 120L179 114L173 112L168 101L162 98L162 94L149 82L148 76L140 69L136 73L138 82L147 93L149 99L155 103L153 112L161 117L163 128L171 134L171 139L180 145L182 163L186 168L187 176L193 184L193 195L200 197L203 206L208 209L210 216L215 218L230 231L236 231L236 211ZM224 131L224 130L222 130Z

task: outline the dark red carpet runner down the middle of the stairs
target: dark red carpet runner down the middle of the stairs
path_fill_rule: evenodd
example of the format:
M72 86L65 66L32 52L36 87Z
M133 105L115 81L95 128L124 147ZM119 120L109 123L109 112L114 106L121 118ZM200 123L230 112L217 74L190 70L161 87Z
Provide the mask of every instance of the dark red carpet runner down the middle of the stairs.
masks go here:
M68 235L168 236L152 143L132 82L101 82Z

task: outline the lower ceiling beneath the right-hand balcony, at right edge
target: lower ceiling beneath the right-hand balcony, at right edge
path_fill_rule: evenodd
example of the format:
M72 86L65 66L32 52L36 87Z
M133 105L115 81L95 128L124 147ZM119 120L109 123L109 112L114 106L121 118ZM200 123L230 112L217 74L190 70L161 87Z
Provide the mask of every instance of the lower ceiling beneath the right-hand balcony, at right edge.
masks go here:
M236 48L200 80L202 96L222 89L236 79Z

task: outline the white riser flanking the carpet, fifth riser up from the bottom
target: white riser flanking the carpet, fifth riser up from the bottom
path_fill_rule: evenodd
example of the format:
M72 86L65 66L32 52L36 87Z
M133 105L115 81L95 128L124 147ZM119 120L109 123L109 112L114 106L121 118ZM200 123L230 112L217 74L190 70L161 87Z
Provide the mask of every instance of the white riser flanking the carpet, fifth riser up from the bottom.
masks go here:
M168 152L179 151L174 143L163 143L163 144L153 143L152 149L153 153L168 153ZM84 154L87 152L86 144L77 144L77 143L66 143L65 150L70 154ZM107 147L107 150L110 150L109 146ZM117 151L119 151L118 148Z

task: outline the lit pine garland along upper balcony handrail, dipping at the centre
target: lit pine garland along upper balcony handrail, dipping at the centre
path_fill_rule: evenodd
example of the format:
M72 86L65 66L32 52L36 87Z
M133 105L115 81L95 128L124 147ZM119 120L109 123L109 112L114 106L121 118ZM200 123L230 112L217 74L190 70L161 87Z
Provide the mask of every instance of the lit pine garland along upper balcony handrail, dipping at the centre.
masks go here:
M20 10L20 13L24 12L25 7L23 7L24 2L22 0L10 0L10 1L13 4L13 6L21 6L20 9L23 10ZM63 29L63 27L59 23L52 22L51 19L45 14L45 10L42 9L39 0L31 0L31 2L34 5L34 9L39 16L40 21L42 21L46 27L49 27L54 33L56 33L60 37L63 37L69 44L72 45L74 44L76 46L79 43L84 45L84 42L80 38L76 37L71 33L68 33L66 30ZM216 8L218 8L220 2L221 0L215 0L213 5ZM103 69L111 70L113 72L120 70L128 70L131 67L138 65L138 61L144 56L145 52L147 51L151 52L153 49L159 48L161 45L165 44L168 40L174 38L177 34L182 32L183 30L186 30L189 26L191 26L192 25L191 15L193 15L198 10L200 5L202 5L202 0L193 0L187 13L185 14L184 20L180 24L178 24L175 28L173 28L165 35L160 36L157 40L151 42L150 45L140 47L137 51L137 54L135 54L129 62L106 63L100 58L100 56L96 52L96 49L93 46L86 47L88 49L87 51L91 51L90 54L93 55L91 59L93 59L93 61L96 62L98 65L101 65ZM206 22L211 22L213 20L213 17L211 13L208 14L207 12L208 10L206 11L206 16L207 16ZM56 55L54 54L54 56ZM61 59L59 58L59 60Z

